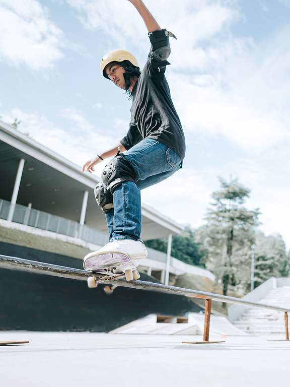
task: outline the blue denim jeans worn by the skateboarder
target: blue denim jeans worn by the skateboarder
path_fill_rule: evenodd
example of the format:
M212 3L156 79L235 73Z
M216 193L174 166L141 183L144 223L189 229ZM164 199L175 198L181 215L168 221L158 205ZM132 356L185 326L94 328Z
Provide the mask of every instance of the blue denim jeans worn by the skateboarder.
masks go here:
M136 174L136 183L124 181L113 193L114 208L106 211L109 240L134 239L141 235L140 189L156 184L176 172L180 157L166 145L144 139L124 153Z

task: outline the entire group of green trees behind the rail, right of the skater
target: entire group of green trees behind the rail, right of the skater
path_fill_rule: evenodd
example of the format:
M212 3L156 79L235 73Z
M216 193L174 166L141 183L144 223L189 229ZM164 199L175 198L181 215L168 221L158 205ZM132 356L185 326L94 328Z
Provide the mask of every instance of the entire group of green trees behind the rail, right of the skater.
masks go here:
M238 179L220 178L221 188L212 193L206 224L193 232L187 227L182 235L174 236L171 255L214 273L223 287L223 294L235 288L244 295L250 290L251 254L255 248L255 287L268 278L289 275L290 252L279 234L265 236L256 228L259 210L245 206L250 189ZM148 241L148 247L166 253L167 240Z

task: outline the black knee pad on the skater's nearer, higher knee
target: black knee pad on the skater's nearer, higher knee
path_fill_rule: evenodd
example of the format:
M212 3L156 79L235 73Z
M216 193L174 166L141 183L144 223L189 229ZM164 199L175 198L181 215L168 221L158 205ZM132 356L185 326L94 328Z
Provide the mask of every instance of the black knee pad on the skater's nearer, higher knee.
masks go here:
M111 193L123 182L136 182L136 174L132 164L125 158L123 153L115 156L104 168L102 181L105 188Z

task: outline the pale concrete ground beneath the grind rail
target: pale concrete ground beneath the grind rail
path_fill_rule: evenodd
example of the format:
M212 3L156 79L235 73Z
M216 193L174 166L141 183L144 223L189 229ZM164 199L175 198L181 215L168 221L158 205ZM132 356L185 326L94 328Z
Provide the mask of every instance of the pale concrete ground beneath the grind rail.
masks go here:
M290 342L283 337L221 337L220 344L182 344L200 336L1 332L1 385L34 387L288 385Z

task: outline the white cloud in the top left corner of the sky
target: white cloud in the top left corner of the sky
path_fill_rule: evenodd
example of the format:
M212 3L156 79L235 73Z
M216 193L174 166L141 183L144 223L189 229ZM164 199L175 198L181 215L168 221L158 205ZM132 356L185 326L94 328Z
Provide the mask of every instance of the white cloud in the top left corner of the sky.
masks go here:
M62 31L37 0L0 0L0 59L47 69L63 56L62 47Z

